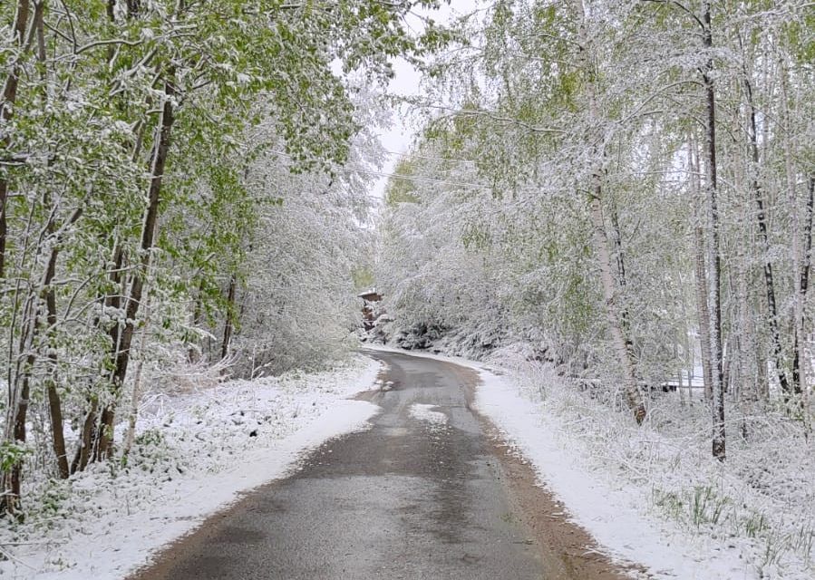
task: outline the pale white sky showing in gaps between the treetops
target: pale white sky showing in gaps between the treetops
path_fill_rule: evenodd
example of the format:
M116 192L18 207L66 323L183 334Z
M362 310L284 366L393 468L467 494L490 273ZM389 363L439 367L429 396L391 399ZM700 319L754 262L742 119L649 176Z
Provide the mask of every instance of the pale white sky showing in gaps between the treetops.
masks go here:
M468 14L476 9L478 0L451 0L450 5L442 5L440 10L422 10L420 14L426 15L432 20L446 24L452 18L462 14ZM417 31L422 29L422 23L418 18L409 20ZM416 96L422 93L422 75L418 73L412 65L397 59L393 63L395 76L388 85L388 92L400 96ZM396 163L402 158L401 154L407 153L411 148L411 143L416 134L416 127L412 126L411 120L404 117L403 111L393 112L393 127L389 130L382 130L379 138L385 150L391 151L386 156L383 173L393 173ZM382 198L387 177L376 180L372 195Z

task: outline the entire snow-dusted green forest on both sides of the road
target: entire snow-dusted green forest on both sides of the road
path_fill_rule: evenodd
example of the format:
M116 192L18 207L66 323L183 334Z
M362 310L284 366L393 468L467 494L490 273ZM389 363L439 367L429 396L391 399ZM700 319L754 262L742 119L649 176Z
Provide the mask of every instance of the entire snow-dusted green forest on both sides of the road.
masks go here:
M812 569L815 5L462 4L0 5L4 526L131 467L149 393L383 342Z

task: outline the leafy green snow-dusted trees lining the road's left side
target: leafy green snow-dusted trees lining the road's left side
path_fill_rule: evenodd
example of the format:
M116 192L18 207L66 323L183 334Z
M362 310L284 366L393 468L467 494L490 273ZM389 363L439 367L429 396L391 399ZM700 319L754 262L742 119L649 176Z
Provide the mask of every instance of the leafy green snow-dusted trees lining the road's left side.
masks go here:
M344 339L364 198L339 169L362 155L358 89L441 42L404 24L433 4L0 5L5 511L26 466L68 478L126 455L114 430L144 363L257 375ZM330 319L319 333L293 327L309 300Z

